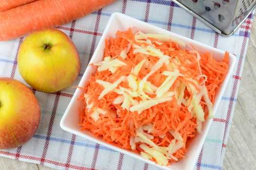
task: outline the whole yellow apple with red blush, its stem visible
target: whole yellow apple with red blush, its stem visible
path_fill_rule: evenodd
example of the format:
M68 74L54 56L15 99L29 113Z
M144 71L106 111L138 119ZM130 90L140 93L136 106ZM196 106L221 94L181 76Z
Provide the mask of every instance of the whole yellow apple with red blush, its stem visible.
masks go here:
M56 92L71 85L80 72L80 58L72 40L57 29L28 35L18 53L22 78L33 88Z

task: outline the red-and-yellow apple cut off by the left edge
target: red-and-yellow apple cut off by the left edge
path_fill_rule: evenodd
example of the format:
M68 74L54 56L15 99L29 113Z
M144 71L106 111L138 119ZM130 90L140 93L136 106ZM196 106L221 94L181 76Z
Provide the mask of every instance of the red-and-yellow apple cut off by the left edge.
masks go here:
M39 120L39 102L32 91L18 80L0 78L0 149L27 142Z

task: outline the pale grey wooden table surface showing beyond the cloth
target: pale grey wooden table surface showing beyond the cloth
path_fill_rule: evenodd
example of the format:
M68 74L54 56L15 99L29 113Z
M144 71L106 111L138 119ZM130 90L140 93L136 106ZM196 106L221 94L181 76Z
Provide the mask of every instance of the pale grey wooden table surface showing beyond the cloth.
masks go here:
M256 13L255 13L256 14ZM0 157L0 170L54 170ZM256 170L256 21L253 22L223 170Z

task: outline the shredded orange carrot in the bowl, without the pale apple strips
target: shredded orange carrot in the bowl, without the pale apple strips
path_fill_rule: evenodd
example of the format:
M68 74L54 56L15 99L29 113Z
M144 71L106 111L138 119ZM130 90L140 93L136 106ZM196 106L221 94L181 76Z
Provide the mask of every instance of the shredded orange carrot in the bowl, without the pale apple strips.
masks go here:
M182 138L182 146L179 146L177 151L172 153L172 156L175 158L169 158L168 163L165 165L169 165L171 162L176 162L177 160L184 158L184 154L187 152L187 149L196 136L197 129L199 128L199 123L197 121L199 118L195 115L192 109L189 108L190 105L196 103L193 95L195 95L195 93L202 93L200 87L205 87L208 92L209 100L211 102L215 101L215 96L219 87L218 85L224 80L228 70L229 53L225 53L222 61L216 61L210 52L199 53L197 51L201 58L199 60L197 58L197 52L195 52L196 49L194 52L180 50L178 44L171 40L163 42L157 38L148 38L147 42L145 42L145 39L144 42L137 42L132 29L128 29L124 32L118 31L116 35L117 37L105 40L106 46L104 57L110 57L110 60L112 61L118 59L125 64L118 67L114 72L110 70L97 70L95 75L89 79L89 84L85 88L81 87L84 88L84 93L81 99L85 101L86 105L84 112L80 113L79 126L81 126L81 131L89 130L96 136L102 137L103 140L135 153L145 152L143 145L141 148L140 144L147 144L148 147L152 147L150 146L152 145L152 142L156 146L168 148L174 140L177 140L175 139L175 136L179 134ZM184 84L183 102L178 104L177 97L172 96L172 99L160 102L139 113L138 111L132 111L131 107L130 109L123 108L121 105L123 102L114 103L115 99L117 99L118 96L121 96L115 90L110 91L105 94L103 98L99 99L99 96L105 87L104 85L98 84L98 80L108 82L107 85L109 85L115 84L120 77L133 75L139 82L152 71L152 68L158 63L159 58L161 57L153 56L154 52L148 54L136 52L136 50L142 47L152 47L152 45L148 44L148 41L151 41L149 44L154 44L154 48L160 50L165 55L168 55L169 62L171 62L172 65L179 63L178 67L175 69L178 69L179 73L183 76L177 77L170 87L169 92L181 90L181 83ZM120 53L129 45L129 43L133 45L128 51L126 58L122 58ZM138 48L138 46L140 46L140 48ZM157 51L156 49L155 52ZM105 58L104 61L106 61ZM132 70L134 70L141 61L144 61L144 64L141 66L138 74L135 74ZM147 81L159 89L163 82L167 80L167 76L162 73L168 69L174 68L170 68L166 63L163 64L148 77ZM121 82L116 87L116 90L121 91L121 87L133 90L129 86L129 83L129 80ZM154 99L157 96L157 92L153 94L147 93L147 95L151 99ZM138 103L145 101L145 99L141 99L138 95L135 95L132 100ZM204 112L204 119L206 119L209 114L209 101L205 101L204 98L201 98L198 104ZM130 105L134 106L136 104ZM100 113L98 113L97 109L102 109L103 111L101 110L99 111ZM141 130L141 128L149 128L150 130ZM131 142L133 143L135 139L139 139L139 130L146 134L146 136L153 137L149 139L151 140L151 143L139 140L134 144L135 146L133 147L135 148L133 148ZM176 144L177 141L175 145ZM151 160L158 163L158 160L154 158Z

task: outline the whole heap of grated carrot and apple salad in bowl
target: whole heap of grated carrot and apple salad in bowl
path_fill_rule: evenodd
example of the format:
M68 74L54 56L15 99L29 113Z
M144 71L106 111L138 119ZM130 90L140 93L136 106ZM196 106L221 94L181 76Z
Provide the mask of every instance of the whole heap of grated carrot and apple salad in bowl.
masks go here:
M211 52L181 50L164 34L118 31L105 40L103 61L93 63L81 99L81 130L139 153L159 165L186 153L207 116L228 70Z

